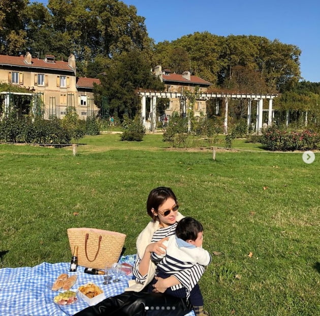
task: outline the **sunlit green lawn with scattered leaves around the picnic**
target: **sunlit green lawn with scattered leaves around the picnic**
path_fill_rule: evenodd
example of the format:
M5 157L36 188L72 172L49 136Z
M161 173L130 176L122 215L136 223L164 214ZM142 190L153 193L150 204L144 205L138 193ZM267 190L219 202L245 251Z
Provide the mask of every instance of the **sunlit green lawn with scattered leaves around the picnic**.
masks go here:
M124 233L125 254L135 253L147 195L164 185L216 253L200 280L212 315L318 315L320 154L305 164L300 153L236 140L257 151L213 160L207 150L168 150L161 135L119 138L86 137L75 157L71 148L0 145L1 268L69 262L69 227Z

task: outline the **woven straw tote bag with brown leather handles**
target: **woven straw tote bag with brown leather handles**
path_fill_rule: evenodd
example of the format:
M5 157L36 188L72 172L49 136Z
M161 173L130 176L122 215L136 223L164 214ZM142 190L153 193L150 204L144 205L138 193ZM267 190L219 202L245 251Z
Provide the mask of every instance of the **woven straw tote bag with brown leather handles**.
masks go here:
M118 262L126 235L95 228L68 228L70 249L78 246L78 265L104 269Z

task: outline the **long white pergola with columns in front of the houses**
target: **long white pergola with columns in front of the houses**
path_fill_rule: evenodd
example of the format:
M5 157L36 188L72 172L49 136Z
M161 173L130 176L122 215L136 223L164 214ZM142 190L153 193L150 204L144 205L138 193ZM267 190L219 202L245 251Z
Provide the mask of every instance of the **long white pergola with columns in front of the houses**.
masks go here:
M150 98L150 119L151 127L153 131L156 127L156 100L157 98L169 98L169 99L180 99L182 112L186 113L186 97L183 93L176 92L139 92L141 96L141 118L143 125L146 125L146 98ZM263 95L263 94L229 94L229 93L201 93L197 99L209 100L212 98L222 99L225 104L225 120L223 122L224 133L228 133L228 102L230 99L246 99L248 100L248 116L247 124L251 125L251 107L252 101L257 101L257 120L255 122L255 130L259 132L263 127L262 116L263 116L263 100L269 100L268 108L268 125L272 125L272 100L277 95ZM218 111L218 103L216 105L216 111Z

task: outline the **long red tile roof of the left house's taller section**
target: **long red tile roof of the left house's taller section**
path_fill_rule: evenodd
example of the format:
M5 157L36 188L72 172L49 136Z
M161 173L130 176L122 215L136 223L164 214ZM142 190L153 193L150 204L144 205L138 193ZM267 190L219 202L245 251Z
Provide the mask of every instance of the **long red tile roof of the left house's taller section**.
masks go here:
M69 65L68 62L55 61L55 62L45 62L42 59L33 58L31 60L31 65L24 62L24 56L8 56L0 55L0 65L10 65L10 66L19 66L26 68L44 68L52 70L63 70L63 71L74 71Z

